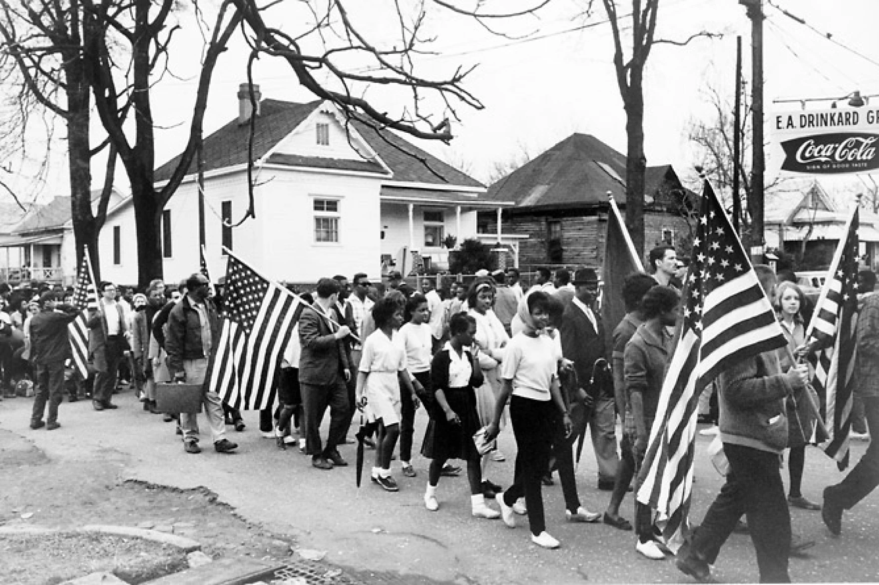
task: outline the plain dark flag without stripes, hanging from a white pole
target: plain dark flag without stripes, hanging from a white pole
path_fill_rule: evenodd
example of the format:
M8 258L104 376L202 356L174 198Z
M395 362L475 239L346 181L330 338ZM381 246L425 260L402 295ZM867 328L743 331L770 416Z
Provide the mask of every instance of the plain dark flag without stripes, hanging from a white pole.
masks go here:
M609 356L614 348L614 329L626 315L626 305L622 300L622 283L632 272L643 271L641 259L635 253L635 246L623 223L620 209L614 197L608 193L610 211L607 213L607 235L605 236L605 258L601 269L601 321L604 321L605 344Z

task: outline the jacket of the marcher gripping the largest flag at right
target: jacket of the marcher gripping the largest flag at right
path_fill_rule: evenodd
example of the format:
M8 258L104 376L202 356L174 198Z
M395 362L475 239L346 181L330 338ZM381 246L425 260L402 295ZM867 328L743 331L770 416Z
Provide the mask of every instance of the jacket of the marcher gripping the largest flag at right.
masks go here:
M785 397L803 389L792 386L793 380L781 373L774 351L742 360L721 372L717 400L723 443L781 453L788 446Z

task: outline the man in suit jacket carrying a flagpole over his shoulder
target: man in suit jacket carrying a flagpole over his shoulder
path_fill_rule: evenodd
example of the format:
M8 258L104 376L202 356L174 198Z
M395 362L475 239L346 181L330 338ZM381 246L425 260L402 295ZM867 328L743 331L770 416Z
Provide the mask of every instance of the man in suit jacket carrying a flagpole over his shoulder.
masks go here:
M305 307L299 317L302 346L299 383L306 432L305 451L311 455L311 465L323 470L348 465L339 454L338 445L345 441L350 421L351 407L345 382L351 379L351 370L343 340L351 329L331 322L338 293L336 280L321 278L317 282L314 305ZM330 407L330 434L326 447L322 448L319 428L327 406Z

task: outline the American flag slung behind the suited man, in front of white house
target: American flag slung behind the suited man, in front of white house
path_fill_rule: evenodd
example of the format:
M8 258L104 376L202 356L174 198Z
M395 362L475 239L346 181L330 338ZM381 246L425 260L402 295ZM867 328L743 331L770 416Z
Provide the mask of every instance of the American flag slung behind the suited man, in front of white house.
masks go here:
M268 408L275 372L305 304L231 254L224 297L222 331L208 387L229 406Z

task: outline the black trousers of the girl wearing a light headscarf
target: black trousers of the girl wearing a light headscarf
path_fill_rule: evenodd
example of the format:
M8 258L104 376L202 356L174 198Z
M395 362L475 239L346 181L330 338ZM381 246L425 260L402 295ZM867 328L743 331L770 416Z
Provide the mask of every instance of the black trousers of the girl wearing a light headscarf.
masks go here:
M549 468L556 410L553 401L534 401L515 395L510 399L512 434L519 452L513 483L504 492L504 502L512 506L525 496L528 524L535 536L546 530L541 477Z

